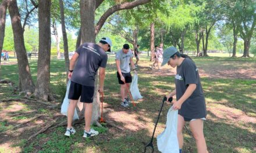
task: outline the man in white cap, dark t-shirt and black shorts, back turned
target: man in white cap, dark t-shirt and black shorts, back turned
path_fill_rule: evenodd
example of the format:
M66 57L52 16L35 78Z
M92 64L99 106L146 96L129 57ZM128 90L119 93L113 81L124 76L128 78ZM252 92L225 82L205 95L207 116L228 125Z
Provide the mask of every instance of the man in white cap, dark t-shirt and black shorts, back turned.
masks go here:
M102 38L98 44L83 43L72 56L69 66L69 108L67 110L67 130L65 136L76 133L72 127L72 119L77 101L81 96L80 101L85 104L83 137L91 137L99 134L98 131L90 128L91 115L93 112L93 97L94 97L94 82L95 75L99 68L99 93L103 93L105 67L108 55L106 52L111 52L112 42L108 37ZM77 62L76 62L77 61ZM76 63L76 64L75 64ZM75 66L76 65L76 66Z

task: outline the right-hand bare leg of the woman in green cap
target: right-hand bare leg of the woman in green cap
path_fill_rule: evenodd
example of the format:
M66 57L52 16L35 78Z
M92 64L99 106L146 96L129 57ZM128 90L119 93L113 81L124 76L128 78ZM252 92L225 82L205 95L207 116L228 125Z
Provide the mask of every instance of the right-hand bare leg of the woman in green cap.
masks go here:
M204 139L204 121L202 119L196 119L190 122L190 128L193 133L195 142L197 143L198 153L207 153L207 145Z

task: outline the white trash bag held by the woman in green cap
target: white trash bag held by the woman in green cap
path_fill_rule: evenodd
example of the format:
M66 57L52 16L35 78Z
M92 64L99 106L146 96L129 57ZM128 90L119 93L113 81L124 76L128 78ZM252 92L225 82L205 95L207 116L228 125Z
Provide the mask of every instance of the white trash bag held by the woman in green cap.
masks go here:
M162 153L179 153L177 138L178 111L170 107L167 114L166 128L157 136L157 147Z

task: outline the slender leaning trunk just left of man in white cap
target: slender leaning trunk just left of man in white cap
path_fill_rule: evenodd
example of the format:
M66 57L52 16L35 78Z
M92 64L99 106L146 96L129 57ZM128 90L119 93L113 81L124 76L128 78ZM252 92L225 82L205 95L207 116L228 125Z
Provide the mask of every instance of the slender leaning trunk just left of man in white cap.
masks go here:
M59 8L61 10L61 28L62 28L62 38L63 38L63 44L64 44L65 67L66 67L66 74L68 74L68 72L69 72L69 45L67 43L67 33L66 33L66 25L65 25L63 0L59 0ZM67 80L68 80L68 78L67 78Z

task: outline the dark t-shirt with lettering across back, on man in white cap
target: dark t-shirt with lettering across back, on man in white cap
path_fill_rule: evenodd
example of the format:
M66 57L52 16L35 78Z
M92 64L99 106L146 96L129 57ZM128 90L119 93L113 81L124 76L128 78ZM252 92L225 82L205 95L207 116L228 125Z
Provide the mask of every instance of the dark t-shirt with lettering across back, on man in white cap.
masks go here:
M95 43L83 43L76 52L79 54L71 81L84 86L94 86L98 68L106 67L108 55Z

